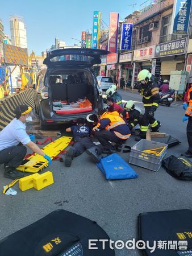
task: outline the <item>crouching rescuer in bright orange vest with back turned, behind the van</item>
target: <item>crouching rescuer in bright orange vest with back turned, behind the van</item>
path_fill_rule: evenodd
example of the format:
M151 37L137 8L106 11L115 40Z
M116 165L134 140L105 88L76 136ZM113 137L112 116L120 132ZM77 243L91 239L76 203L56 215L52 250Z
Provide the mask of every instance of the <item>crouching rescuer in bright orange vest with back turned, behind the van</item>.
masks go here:
M97 126L93 127L93 131L95 131L95 137L102 144L102 152L105 154L114 152L110 142L115 142L115 147L118 148L131 135L126 122L116 111L103 113L99 117Z

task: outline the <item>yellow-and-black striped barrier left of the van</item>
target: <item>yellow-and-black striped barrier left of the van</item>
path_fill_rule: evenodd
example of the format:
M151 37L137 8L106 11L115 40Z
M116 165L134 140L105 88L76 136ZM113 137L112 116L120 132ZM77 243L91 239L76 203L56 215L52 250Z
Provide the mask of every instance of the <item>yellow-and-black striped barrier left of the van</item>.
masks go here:
M31 108L35 107L35 93L34 89L31 88L0 101L0 130L15 118L14 110L19 104L26 104L27 106L31 106Z

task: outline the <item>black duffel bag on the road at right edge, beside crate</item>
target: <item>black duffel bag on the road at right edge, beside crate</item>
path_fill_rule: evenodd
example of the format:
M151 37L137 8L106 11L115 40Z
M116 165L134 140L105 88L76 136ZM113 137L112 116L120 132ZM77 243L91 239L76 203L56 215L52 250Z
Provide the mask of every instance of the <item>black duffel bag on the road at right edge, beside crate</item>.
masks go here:
M162 166L173 177L180 180L192 180L191 162L185 158L171 155L162 161Z

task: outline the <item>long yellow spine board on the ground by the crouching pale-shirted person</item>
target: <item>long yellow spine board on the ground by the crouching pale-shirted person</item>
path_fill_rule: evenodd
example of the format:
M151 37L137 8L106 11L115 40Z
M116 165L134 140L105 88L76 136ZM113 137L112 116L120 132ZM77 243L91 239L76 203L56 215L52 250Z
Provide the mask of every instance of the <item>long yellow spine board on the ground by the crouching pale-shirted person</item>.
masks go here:
M72 137L63 136L56 141L47 144L45 147L41 148L41 150L48 156L53 159L55 156L59 155L62 150L64 150L69 142L72 140ZM48 166L48 160L46 160L41 155L31 155L27 159L23 160L23 164L18 166L16 170L22 172L39 172L43 170L43 168Z

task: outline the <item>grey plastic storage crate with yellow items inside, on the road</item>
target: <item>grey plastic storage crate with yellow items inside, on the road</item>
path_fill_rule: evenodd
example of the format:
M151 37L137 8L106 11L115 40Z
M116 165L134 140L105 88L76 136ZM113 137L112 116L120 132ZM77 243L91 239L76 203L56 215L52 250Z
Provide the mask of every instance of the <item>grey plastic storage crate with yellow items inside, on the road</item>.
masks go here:
M143 150L157 147L165 147L165 150L159 156L143 152ZM157 172L161 167L162 160L165 158L167 148L167 144L141 139L131 147L130 163Z

